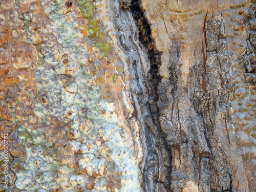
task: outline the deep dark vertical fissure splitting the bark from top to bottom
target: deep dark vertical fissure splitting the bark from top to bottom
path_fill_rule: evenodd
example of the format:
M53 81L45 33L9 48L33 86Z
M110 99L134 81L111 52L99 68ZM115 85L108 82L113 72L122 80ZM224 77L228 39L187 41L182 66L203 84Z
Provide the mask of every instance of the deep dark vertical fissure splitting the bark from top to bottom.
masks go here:
M150 101L148 102L148 111L150 112L150 115L151 115L150 118L152 118L152 120L154 122L154 126L157 128L158 133L157 134L154 133L154 131L152 131L152 127L151 127L151 130L148 129L148 130L145 130L145 132L147 132L147 131L152 132L157 140L158 148L164 148L164 150L167 151L167 153L169 155L169 166L166 167L166 169L167 169L167 176L170 176L170 174L172 172L172 166L171 166L171 162L172 162L171 151L172 150L168 146L167 141L166 141L166 136L163 133L163 131L161 130L161 125L159 122L160 114L159 114L159 108L157 106L157 102L159 100L158 87L159 87L159 83L161 82L161 77L159 75L159 67L161 66L161 54L162 53L155 49L154 41L151 37L151 28L150 28L150 25L147 23L146 18L143 16L143 11L140 9L140 2L138 0L132 1L130 10L135 19L136 26L139 29L139 40L140 40L141 44L144 46L144 48L147 52L148 60L150 61L150 70L147 74L147 90L148 90L148 94L150 96ZM148 125L150 126L150 124L148 124ZM148 134L148 135L150 135L150 134ZM160 138L158 139L157 137L160 137ZM146 144L148 147L147 148L148 155L145 160L146 162L148 161L148 159L151 158L150 153L153 152L150 147L151 142L152 141L148 140L148 138L146 137ZM158 154L158 163L160 163L159 154ZM159 168L161 165L155 164L154 166L158 166L158 168ZM166 166L166 165L164 165L164 166ZM145 187L152 182L154 183L154 185L156 185L157 183L163 184L165 190L171 191L170 177L165 178L165 181L161 181L160 176L159 176L160 173L158 170L157 175L154 176L155 180L150 180L150 182L148 182L147 181L148 171L146 170L147 168L148 167L145 165L145 167L143 169L143 184L144 184L143 187L144 187L145 191L149 191Z

